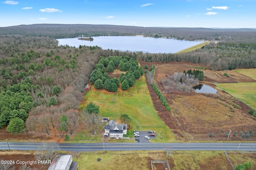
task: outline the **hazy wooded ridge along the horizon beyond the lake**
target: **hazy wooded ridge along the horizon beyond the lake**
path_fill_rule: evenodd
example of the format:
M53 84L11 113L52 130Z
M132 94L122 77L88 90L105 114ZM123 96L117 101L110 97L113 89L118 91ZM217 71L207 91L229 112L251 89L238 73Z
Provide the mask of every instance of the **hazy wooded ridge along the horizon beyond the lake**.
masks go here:
M70 32L70 30L73 30ZM0 35L75 38L93 36L135 36L174 38L177 40L217 40L255 43L254 29L157 28L90 24L32 24L0 28Z

